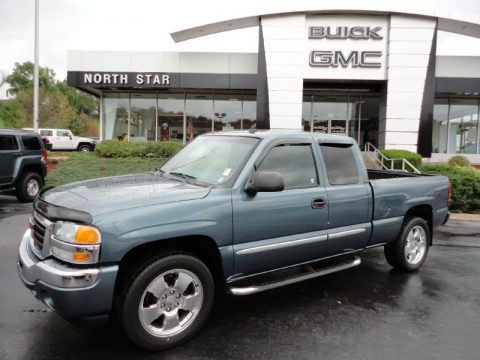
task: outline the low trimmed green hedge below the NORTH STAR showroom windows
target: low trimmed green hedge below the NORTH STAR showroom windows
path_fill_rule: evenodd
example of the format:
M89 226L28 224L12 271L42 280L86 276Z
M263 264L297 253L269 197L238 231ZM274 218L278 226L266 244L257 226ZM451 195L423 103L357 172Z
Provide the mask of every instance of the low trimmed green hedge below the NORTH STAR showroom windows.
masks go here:
M111 158L155 157L170 158L182 148L182 144L173 141L144 141L126 143L118 140L105 140L98 144L95 152L98 156Z

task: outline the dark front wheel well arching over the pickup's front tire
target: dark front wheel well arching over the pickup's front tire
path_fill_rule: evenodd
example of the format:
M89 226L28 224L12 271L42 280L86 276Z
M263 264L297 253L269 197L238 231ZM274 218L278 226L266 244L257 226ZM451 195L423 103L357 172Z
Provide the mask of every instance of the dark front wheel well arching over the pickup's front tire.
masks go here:
M225 281L220 252L215 241L206 236L190 236L150 242L131 249L119 265L115 291L121 292L131 276L140 268L167 254L190 254L199 258L210 270L215 294L225 293Z

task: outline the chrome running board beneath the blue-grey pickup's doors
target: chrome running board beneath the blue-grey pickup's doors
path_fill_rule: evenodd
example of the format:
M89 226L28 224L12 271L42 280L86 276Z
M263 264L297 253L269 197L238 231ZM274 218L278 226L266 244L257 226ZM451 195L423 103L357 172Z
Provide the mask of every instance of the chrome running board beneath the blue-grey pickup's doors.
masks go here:
M294 284L300 281L313 279L318 276L328 275L337 271L346 270L355 266L360 265L362 260L360 257L355 256L353 258L349 258L347 261L343 261L341 263L335 264L333 266L323 267L320 269L314 269L312 266L305 267L305 271L301 273L297 273L295 275L291 275L289 277L283 277L278 280L263 282L260 284L245 286L245 287L230 287L228 291L233 295L251 295L256 294L262 291L267 291L271 289L275 289L280 286Z

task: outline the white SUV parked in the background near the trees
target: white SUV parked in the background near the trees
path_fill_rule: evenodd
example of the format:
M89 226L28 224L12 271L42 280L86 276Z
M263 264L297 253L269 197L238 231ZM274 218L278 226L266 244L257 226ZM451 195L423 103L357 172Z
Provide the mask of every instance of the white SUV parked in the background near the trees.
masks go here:
M33 129L24 129L33 130ZM49 150L76 150L89 152L95 149L96 140L86 137L74 136L68 129L38 129L38 133L47 144Z

